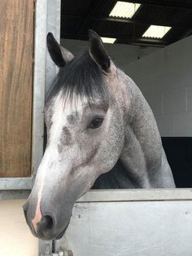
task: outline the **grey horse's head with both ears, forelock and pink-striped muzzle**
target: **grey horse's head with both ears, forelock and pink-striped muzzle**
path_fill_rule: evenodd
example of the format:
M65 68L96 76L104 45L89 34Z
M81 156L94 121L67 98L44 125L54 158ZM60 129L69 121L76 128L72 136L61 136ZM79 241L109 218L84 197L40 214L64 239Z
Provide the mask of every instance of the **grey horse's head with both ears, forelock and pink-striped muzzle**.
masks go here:
M75 57L47 35L59 73L46 97L46 151L24 214L33 234L60 238L72 206L120 157L124 102L117 68L98 34L89 31L89 50Z

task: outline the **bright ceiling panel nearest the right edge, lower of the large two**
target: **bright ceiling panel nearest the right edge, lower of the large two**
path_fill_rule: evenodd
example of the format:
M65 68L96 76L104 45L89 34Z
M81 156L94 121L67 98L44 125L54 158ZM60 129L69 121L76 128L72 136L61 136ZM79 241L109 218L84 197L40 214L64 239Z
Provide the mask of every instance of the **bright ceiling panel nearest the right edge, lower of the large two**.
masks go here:
M164 38L164 35L168 33L169 29L171 29L171 27L151 25L149 29L143 33L142 38Z

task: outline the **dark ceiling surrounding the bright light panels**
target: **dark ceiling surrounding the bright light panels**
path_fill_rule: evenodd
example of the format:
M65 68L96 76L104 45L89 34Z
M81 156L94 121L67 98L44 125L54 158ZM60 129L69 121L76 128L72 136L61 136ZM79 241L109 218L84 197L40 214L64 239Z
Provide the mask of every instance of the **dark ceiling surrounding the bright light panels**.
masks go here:
M123 0L121 0L123 1ZM135 0L142 6L132 19L111 18L117 0L61 0L61 38L88 40L88 29L116 43L167 46L192 34L191 0ZM151 24L172 29L162 39L142 38Z

